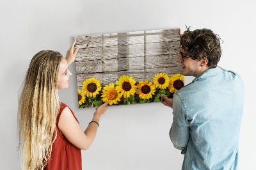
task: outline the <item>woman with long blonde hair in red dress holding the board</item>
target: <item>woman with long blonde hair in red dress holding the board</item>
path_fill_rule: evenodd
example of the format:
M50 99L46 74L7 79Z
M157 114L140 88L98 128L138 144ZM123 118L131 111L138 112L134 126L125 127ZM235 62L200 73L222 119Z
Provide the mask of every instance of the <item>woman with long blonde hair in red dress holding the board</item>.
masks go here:
M30 62L19 98L18 128L22 169L82 169L81 150L95 138L108 102L97 107L83 132L71 109L60 102L58 90L68 88L68 65L76 58L76 40L66 58L42 50Z

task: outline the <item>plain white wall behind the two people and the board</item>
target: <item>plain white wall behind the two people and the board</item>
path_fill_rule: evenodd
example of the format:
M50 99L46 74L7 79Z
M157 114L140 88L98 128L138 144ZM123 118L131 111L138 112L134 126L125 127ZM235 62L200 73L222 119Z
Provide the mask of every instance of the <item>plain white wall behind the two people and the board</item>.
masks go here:
M245 84L240 167L255 162L255 3L253 1L1 1L0 169L20 169L17 158L17 94L30 59L39 50L65 55L72 36L186 26L209 28L223 39L219 63L241 74ZM60 99L85 129L93 108L77 109L76 68ZM254 71L254 72L253 72ZM186 77L186 83L191 77ZM82 151L84 169L181 169L183 156L168 137L172 110L157 104L109 107L97 137ZM254 167L255 168L255 167Z

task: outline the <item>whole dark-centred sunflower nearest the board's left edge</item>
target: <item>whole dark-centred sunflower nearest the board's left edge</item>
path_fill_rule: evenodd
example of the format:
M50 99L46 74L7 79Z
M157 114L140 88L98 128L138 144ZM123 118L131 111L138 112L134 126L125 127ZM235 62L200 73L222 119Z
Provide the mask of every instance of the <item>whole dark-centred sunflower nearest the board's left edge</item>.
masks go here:
M101 89L100 81L96 78L86 79L83 82L83 89L87 97L96 97Z

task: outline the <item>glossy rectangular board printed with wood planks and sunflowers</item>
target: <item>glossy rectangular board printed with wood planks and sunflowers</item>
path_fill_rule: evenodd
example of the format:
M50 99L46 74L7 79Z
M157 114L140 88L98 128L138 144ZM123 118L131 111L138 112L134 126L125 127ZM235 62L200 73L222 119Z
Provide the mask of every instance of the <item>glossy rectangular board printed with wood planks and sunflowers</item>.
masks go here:
M74 36L79 108L160 102L184 86L179 29Z

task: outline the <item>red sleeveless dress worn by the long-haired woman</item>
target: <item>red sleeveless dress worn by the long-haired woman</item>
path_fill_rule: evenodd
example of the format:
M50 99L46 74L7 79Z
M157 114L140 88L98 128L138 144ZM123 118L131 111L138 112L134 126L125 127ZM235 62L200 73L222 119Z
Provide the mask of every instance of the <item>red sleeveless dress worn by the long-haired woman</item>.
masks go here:
M60 112L56 119L57 137L52 144L51 158L49 158L47 166L44 168L45 170L82 169L81 150L74 146L74 144L70 143L65 136L61 135L60 128L58 126L61 112L65 107L68 106L60 102ZM74 112L71 109L70 111L78 122Z

